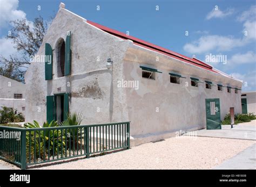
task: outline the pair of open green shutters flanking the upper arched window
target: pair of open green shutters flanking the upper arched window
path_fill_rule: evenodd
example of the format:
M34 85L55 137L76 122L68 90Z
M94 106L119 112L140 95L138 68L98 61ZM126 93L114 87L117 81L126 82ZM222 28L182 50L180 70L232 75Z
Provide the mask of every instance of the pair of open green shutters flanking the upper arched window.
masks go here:
M70 75L71 67L71 31L68 32L65 42L65 76ZM45 43L45 80L52 80L52 47L50 44Z

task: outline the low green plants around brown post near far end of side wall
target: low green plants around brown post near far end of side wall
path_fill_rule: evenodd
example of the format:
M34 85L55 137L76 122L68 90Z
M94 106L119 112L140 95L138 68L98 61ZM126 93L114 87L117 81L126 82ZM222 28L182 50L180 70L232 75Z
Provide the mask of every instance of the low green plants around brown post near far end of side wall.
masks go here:
M234 124L250 122L251 120L254 120L254 119L256 119L256 116L253 113L248 113L248 114L237 113L234 116ZM221 121L221 125L231 125L231 120L230 120L230 114L229 113L226 114L224 120Z

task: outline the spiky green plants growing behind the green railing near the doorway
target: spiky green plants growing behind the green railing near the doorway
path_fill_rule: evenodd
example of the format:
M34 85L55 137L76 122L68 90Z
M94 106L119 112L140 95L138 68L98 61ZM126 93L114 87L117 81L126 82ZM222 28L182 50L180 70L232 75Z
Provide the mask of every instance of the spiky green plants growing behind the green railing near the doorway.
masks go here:
M63 121L60 126L74 126L80 125L82 122L82 115L80 113L73 113L68 115L68 118ZM24 124L24 128L45 128L45 127L57 127L58 121L52 120L49 124L45 122L43 127L41 127L37 121L33 123ZM66 131L66 132L65 132ZM67 138L65 137L67 134ZM29 150L31 161L38 159L48 160L48 156L53 156L61 153L65 153L65 148L72 150L76 149L77 144L79 145L80 135L83 134L83 131L79 128L68 128L67 130L45 130L45 131L31 131L26 132L26 157L29 161ZM44 154L44 142L45 142L45 154ZM67 145L65 145L65 142ZM53 148L54 145L54 148ZM71 145L71 147L69 147ZM75 145L75 147L73 147ZM80 145L79 145L80 146ZM35 149L36 147L36 149ZM40 155L39 155L40 150Z

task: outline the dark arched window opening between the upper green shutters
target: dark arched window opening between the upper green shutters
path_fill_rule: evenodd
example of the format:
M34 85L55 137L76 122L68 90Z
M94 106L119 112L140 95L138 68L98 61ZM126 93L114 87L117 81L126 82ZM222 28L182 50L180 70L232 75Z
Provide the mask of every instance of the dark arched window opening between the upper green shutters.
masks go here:
M58 77L63 77L65 73L65 41L60 38L57 42L57 74Z

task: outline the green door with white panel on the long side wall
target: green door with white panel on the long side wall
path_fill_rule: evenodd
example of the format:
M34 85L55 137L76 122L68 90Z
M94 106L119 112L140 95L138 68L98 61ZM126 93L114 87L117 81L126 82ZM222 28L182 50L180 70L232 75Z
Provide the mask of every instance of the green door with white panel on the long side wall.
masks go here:
M206 129L221 129L220 125L220 99L205 99Z

